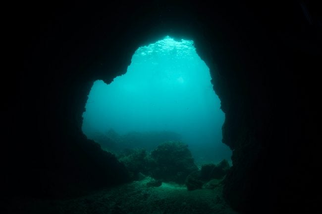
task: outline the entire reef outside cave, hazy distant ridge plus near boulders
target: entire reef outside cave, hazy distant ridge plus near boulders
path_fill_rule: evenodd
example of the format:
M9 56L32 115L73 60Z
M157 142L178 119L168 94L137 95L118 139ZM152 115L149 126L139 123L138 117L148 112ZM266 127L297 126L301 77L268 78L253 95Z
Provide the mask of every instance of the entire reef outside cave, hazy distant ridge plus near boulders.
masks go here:
M160 186L162 182L173 182L185 185L188 190L213 189L230 168L226 159L218 164L204 163L198 168L189 145L177 140L180 135L174 132L119 135L110 129L104 135L97 133L93 137L104 150L115 154L125 166L129 180L150 177L152 180L147 185L153 187Z

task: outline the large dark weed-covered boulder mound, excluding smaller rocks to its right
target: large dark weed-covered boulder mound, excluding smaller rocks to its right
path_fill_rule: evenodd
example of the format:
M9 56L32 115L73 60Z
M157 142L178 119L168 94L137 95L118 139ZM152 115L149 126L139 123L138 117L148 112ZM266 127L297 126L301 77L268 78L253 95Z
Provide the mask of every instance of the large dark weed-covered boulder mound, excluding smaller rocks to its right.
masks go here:
M127 149L119 155L133 180L141 174L163 182L184 184L186 177L198 170L188 145L182 142L161 143L148 153L145 149Z

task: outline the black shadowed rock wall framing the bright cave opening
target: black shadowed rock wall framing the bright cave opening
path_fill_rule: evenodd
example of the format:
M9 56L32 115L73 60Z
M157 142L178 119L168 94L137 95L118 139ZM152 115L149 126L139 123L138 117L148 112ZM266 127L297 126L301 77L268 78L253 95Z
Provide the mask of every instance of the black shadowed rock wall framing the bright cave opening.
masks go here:
M231 206L251 212L321 204L322 34L314 3L28 2L21 8L11 39L14 51L23 51L23 68L8 70L13 85L3 88L2 164L12 195L59 197L74 180L79 189L119 181L119 163L81 133L87 95L94 80L109 83L125 73L139 46L168 34L193 39L211 69L226 115L223 142L233 150L224 188ZM102 163L106 158L111 161Z

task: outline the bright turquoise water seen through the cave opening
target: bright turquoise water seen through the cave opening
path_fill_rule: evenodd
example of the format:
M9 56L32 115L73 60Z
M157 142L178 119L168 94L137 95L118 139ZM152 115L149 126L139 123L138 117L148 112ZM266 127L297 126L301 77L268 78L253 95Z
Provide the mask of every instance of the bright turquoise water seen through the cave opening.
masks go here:
M230 160L221 143L224 113L213 90L210 71L193 41L166 36L140 47L124 75L110 84L94 82L83 114L83 132L95 140L112 129L178 133L196 161Z

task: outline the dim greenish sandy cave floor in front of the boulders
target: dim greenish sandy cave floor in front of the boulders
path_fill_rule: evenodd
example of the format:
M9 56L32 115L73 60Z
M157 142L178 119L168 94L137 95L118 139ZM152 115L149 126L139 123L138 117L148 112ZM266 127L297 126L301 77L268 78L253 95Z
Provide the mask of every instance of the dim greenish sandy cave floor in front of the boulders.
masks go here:
M222 187L188 191L185 186L162 183L149 187L142 181L101 190L68 200L30 199L9 205L12 214L237 214L222 199Z

